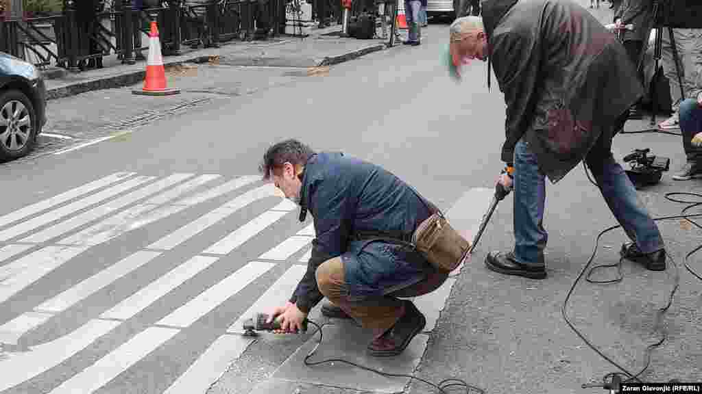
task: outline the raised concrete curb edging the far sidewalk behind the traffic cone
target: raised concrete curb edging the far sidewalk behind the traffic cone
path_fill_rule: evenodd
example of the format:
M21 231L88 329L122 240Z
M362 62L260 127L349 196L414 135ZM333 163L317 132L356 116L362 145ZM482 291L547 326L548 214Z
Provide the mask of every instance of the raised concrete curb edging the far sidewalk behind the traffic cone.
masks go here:
M330 66L333 64L347 62L349 60L357 59L358 57L362 57L369 53L377 52L378 50L384 50L386 48L389 48L387 44L380 43L376 45L367 46L358 50L352 50L341 55L326 56L321 62L319 62L317 67ZM191 57L182 57L178 60L172 60L170 62L165 61L164 59L164 67L168 69L168 67L178 66L184 63L206 63L214 57L217 57L217 55L193 55ZM122 88L124 86L131 86L144 81L145 76L146 70L140 69L112 76L95 77L94 79L88 79L86 81L68 83L65 86L58 86L55 88L48 89L47 100L55 100L62 97L70 97L74 95L79 95L81 93L90 92L93 90Z

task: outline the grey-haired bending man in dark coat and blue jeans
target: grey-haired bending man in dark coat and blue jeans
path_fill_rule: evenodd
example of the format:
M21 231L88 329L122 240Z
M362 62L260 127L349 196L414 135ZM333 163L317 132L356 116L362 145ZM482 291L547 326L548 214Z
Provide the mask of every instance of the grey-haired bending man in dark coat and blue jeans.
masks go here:
M614 34L572 0L486 0L482 19L460 18L450 32L456 73L471 59L489 59L507 104L502 160L510 170L499 182L514 182L515 247L488 254L488 268L546 277L545 177L556 183L584 159L633 241L623 257L664 270L661 233L611 154L612 137L644 92Z

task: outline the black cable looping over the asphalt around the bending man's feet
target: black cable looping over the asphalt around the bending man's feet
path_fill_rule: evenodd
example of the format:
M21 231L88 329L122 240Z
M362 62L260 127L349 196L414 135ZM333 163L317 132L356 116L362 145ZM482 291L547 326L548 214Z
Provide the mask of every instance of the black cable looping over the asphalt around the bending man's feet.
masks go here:
M598 186L597 183L595 183L595 182L592 180L592 178L590 178L590 174L589 174L587 168L585 167L585 163L583 163L583 169L585 169L585 175L587 175L587 177L588 177L588 179L590 180L590 182L592 182L592 184L594 184L595 186L597 186L597 188L599 189L600 186ZM674 199L674 198L671 198L671 196L694 196L694 197L696 197L696 198L700 198L700 200L699 200L699 201L681 201L681 200L676 200L676 199ZM688 204L690 204L690 205L688 205L687 207L685 207L685 208L682 210L682 212L681 212L682 215L674 215L674 216L667 216L667 217L656 217L656 218L654 218L654 221L658 222L658 221L661 221L661 220L669 220L669 219L685 219L685 220L687 220L688 222L690 222L691 224L694 224L695 226L697 226L699 229L702 229L702 226L701 226L700 224L698 224L698 223L694 222L693 220L691 220L691 218L693 218L693 217L702 217L702 214L689 215L689 214L686 214L686 213L685 213L685 212L687 212L687 210L689 210L689 209L691 209L691 208L694 208L694 207L696 207L696 206L702 205L702 194L698 194L698 193L682 193L682 192L679 192L679 193L665 193L665 198L667 198L668 201L673 201L673 202L676 202L676 203L688 203ZM639 383L644 383L644 382L641 381L641 379L639 379L639 376L640 376L646 369L648 369L648 367L649 367L649 365L650 365L650 363L651 363L651 351L653 351L654 348L657 348L658 346L661 346L661 344L663 344L663 342L665 341L665 339L667 339L667 337L668 337L668 336L667 336L667 333L666 333L665 331L661 330L661 334L662 334L661 339L658 340L655 344L651 344L651 345L647 346L647 349L646 349L646 363L645 363L645 366L643 367L643 369L641 369L640 372L638 372L637 374L633 374L632 372L629 372L628 369L622 367L622 366L619 365L617 362L615 362L614 360L611 360L611 358L609 358L607 355L605 355L604 353L602 353L602 351L600 351L596 346L594 346L592 343L590 343L590 341L588 341L588 339L586 339L586 338L583 336L583 334L581 334L581 332L579 332L579 331L576 329L576 327L574 327L574 325L571 324L570 320L568 320L568 316L567 316L567 313L566 313L566 308L567 308L568 301L569 301L569 299L570 299L570 297L571 297L571 294L572 294L573 291L575 290L576 285L578 284L578 282L579 282L579 281L581 280L581 278L583 277L583 274L585 273L585 271L588 270L588 267L592 264L592 260L595 259L595 254L597 253L597 246L598 246L599 243L600 243L600 238L602 238L602 236L603 236L605 233L607 233L607 232L609 232L609 231L611 231L611 230L614 230L614 229L618 229L618 228L620 228L620 227L621 227L621 226L611 226L611 227L609 227L608 229L604 229L603 231L601 231L601 232L597 235L597 238L595 239L595 248L594 248L594 250L592 250L592 255L590 255L590 259L588 259L588 263L585 264L585 267L583 268L583 270L581 271L581 273L578 275L578 278L576 278L576 280L574 281L573 285L571 286L571 288L570 288L570 290L569 290L569 292L568 292L568 294L567 294L567 296L566 296L566 299L565 299L564 302L563 302L563 306L562 306L562 308L561 308L561 312L562 312L563 318L564 318L564 320L566 321L566 323L569 325L569 327L571 327L571 330L573 330L573 331L578 335L578 337L580 337L580 339L582 339L582 340L585 342L585 344L587 344L588 346L590 346L590 348L592 348L592 350L595 351L595 353L597 353L597 354L600 355L602 358L604 358L604 360L607 360L608 362L610 362L611 365L614 365L614 366L617 367L618 369L621 369L621 371L623 372L623 374L620 373L620 372L611 372L611 373L609 373L609 374L607 374L607 375L605 375L605 376L603 377L603 379L602 379L603 383L602 383L602 384L583 384L583 386L582 386L583 388L592 388L592 387L603 387L603 388L608 388L609 386L611 386L611 381L612 381L611 379L614 378L614 376L617 376L617 375L618 375L618 376L622 376L622 375L628 376L628 378L622 379L622 383L630 383L630 382L632 382L632 381L637 381L637 382L639 382ZM700 249L702 249L702 245L699 245L698 247L694 248L694 250L692 250L691 252L689 252L689 253L685 256L684 266L685 266L685 268L686 268L692 275L694 275L694 276L696 276L696 278L702 280L702 276L700 276L698 273L696 273L696 272L691 268L691 266L689 266L689 264L688 264L688 262L687 262L688 259L689 259L689 257L691 257L692 254L694 254L695 252L697 252L697 251L700 250ZM669 295L669 297L668 297L668 302L665 304L665 306L664 306L663 308L660 308L660 309L658 310L658 313L656 314L656 323L655 323L655 325L654 325L654 332L658 332L658 329L661 328L661 320L662 320L662 318L663 318L663 315L665 314L666 311L668 311L668 308L670 308L670 305L673 304L673 297L674 297L674 295L675 295L675 292L677 292L677 287L680 285L680 272L679 272L677 263L675 262L675 259L673 259L673 257L670 256L670 254L669 254L668 252L665 252L665 254L666 254L666 256L670 259L670 261L673 261L673 265L675 266L675 280L674 280L675 284L673 285L673 290L670 291L670 295ZM622 260L623 260L623 257L621 257L621 258L619 259L618 264L603 264L603 265L600 265L600 266L594 266L594 267L592 267L592 269L590 269L590 272L588 273L588 276L587 276L586 280L588 280L588 282L590 282L590 283L618 283L618 282L621 282L621 280L622 280L622 276L621 276L621 262L622 262ZM614 279L614 280L604 280L604 281L590 280L590 275L592 274L592 271L595 271L595 269L604 268L604 267L612 267L612 266L618 266L618 278L616 278L616 279ZM607 379L610 379L610 380L607 381ZM674 380L675 380L675 379L671 379L671 381L674 381Z

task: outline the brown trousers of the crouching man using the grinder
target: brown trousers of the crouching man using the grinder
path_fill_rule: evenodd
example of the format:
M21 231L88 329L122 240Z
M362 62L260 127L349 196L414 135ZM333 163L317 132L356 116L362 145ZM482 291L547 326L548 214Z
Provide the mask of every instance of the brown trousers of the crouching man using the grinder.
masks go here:
M410 298L437 290L449 278L445 271L433 271L420 282L396 290L385 297L367 298L363 301L350 301L348 287L344 280L344 264L340 257L324 261L317 267L317 287L332 304L341 308L347 315L370 328L376 336L390 330L404 315L404 303L398 297Z

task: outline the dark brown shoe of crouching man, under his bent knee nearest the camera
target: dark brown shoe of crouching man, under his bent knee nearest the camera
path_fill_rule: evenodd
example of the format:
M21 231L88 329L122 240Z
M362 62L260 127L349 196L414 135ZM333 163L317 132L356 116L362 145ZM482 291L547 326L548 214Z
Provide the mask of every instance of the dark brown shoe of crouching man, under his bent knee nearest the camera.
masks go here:
M404 315L390 330L369 344L368 351L371 355L375 357L399 355L427 325L427 319L412 301L403 300L402 302L404 302Z

